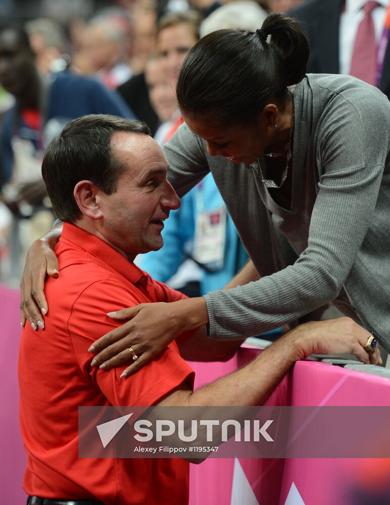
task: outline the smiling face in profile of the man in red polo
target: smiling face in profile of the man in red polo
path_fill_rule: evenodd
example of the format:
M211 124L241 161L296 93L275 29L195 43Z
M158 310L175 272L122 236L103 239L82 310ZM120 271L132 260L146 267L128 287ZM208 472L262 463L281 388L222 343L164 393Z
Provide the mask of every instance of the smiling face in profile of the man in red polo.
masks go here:
M149 135L117 132L111 145L113 156L127 169L119 175L115 193L99 194L103 218L96 224L105 239L132 261L162 247L163 221L180 207L180 199L167 181L168 161Z

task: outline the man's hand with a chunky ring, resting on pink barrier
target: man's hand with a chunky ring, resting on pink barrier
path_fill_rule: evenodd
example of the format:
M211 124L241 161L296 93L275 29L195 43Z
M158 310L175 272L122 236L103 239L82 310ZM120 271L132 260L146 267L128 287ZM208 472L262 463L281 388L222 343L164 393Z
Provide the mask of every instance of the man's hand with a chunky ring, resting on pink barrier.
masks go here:
M299 349L299 358L311 354L354 354L365 364L381 365L379 348L373 354L363 349L370 333L348 317L313 321L302 324L290 332Z

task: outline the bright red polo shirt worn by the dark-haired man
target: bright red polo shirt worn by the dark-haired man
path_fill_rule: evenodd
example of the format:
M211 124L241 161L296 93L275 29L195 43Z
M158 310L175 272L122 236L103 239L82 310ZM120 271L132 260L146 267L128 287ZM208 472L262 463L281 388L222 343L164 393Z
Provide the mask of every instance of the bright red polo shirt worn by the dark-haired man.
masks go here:
M95 498L107 505L187 503L180 459L79 459L79 406L150 406L193 372L172 343L135 375L91 367L96 338L118 326L106 316L183 295L154 281L97 237L65 224L56 247L60 276L45 284L45 328L22 331L20 422L27 452L23 488L44 498Z

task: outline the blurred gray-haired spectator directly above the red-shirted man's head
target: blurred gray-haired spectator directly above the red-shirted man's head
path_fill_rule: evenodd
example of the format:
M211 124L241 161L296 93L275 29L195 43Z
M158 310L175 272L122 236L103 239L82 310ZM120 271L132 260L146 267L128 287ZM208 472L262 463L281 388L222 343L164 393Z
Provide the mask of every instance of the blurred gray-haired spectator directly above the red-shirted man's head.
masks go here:
M93 75L109 89L116 89L132 75L131 38L132 24L126 12L104 10L87 23L74 65L82 74Z

